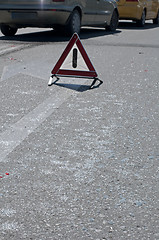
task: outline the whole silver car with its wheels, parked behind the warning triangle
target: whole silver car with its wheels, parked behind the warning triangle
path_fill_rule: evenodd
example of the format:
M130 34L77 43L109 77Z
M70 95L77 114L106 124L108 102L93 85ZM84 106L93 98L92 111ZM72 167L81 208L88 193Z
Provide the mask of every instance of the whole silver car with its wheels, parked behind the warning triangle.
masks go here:
M64 29L72 35L82 26L115 31L118 25L115 0L0 0L0 27L5 36L18 28Z

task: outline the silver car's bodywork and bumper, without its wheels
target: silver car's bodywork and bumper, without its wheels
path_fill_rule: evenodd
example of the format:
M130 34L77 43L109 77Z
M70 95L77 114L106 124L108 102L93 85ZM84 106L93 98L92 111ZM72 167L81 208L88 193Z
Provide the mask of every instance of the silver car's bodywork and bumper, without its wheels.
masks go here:
M0 24L11 27L53 27L66 25L75 8L82 26L109 25L114 0L0 0Z

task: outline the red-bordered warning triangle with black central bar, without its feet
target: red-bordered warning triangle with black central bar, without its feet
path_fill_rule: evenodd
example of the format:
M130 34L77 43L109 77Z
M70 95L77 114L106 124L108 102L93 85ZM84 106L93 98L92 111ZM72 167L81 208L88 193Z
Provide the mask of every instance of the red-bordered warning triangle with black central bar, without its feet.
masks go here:
M73 49L73 47L76 45L78 48L82 58L83 62L85 63L85 66L87 67L87 70L82 70L81 67L78 68L78 51L77 48ZM73 55L72 55L72 66L71 69L67 69L66 67L63 68L64 61L66 60L67 56L73 49ZM79 39L79 36L77 33L74 33L72 38L70 39L68 45L66 46L64 52L62 53L60 59L56 63L55 67L53 68L52 72L53 76L72 76L72 77L82 77L82 78L96 78L97 73Z

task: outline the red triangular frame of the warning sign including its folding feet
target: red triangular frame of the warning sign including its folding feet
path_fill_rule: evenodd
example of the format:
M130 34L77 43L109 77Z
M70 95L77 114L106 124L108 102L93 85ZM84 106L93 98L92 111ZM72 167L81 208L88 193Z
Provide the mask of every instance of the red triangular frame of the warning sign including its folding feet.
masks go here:
M72 50L74 45L77 45L78 50L80 51L87 67L88 71L83 70L69 70L69 69L62 69L61 66L63 62L65 61L66 57L68 56L69 52ZM98 75L95 71L95 68L93 67L81 41L77 33L74 33L72 38L70 39L68 45L66 46L65 50L63 51L61 57L57 61L56 65L54 66L53 70L51 71L52 76L50 77L50 80L48 82L48 85L51 86L53 84L53 78L56 77L56 81L59 80L59 76L63 77L77 77L77 78L89 78L94 79L90 88L95 84L97 80L100 81L100 84L103 83L98 78Z

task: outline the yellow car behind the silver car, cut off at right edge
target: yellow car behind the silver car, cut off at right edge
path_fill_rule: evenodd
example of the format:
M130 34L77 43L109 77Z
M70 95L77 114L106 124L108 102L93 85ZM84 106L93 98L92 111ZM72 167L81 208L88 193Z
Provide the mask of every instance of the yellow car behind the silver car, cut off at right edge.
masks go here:
M143 27L146 20L159 24L159 0L117 0L119 19L136 21Z

